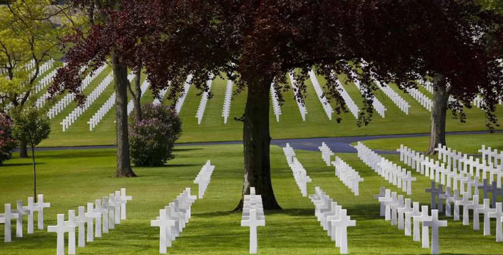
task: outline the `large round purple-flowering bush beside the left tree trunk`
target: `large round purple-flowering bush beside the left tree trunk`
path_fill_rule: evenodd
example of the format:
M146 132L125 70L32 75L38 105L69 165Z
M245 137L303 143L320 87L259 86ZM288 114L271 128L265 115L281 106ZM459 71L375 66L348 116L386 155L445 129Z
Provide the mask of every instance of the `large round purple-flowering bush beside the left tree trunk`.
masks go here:
M146 104L141 107L143 120L133 120L129 127L131 161L138 166L160 166L175 158L173 146L182 134L182 121L175 109Z

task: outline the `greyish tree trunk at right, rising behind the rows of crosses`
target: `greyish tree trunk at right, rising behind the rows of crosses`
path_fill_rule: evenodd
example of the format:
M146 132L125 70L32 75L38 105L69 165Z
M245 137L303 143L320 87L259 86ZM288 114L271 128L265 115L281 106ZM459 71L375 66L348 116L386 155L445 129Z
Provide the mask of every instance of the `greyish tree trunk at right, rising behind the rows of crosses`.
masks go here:
M430 148L427 154L436 154L435 148L438 144L445 145L445 120L447 115L447 104L449 102L449 92L445 76L437 74L433 78L433 107L430 130Z

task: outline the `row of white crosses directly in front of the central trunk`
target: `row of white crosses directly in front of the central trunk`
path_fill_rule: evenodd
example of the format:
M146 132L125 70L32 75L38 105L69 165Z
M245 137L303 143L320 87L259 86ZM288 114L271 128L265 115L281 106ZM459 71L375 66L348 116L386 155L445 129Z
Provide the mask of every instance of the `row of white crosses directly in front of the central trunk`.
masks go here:
M266 216L262 204L262 196L255 193L255 187L250 187L250 194L244 195L241 226L250 228L249 253L257 253L257 227L266 225Z

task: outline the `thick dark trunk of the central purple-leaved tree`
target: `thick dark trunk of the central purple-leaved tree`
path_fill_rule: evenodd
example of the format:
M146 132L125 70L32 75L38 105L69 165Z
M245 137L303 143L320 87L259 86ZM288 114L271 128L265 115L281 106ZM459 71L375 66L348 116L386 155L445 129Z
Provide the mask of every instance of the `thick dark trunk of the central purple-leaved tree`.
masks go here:
M242 210L244 195L250 187L262 196L264 209L279 210L271 184L269 146L269 89L272 79L256 79L248 82L248 93L243 121L244 179L241 200L234 209Z

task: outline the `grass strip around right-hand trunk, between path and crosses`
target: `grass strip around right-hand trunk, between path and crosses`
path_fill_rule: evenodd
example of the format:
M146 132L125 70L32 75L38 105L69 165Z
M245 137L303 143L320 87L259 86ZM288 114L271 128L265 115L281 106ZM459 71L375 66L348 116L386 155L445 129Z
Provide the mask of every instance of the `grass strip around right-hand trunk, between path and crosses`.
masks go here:
M429 136L385 138L362 141L371 149L396 150L403 144L415 151L427 151L430 144ZM503 133L472 134L472 135L446 135L447 146L463 153L479 153L482 144L498 151L503 149ZM356 143L353 143L356 145Z

